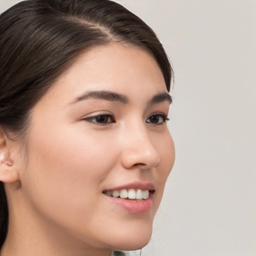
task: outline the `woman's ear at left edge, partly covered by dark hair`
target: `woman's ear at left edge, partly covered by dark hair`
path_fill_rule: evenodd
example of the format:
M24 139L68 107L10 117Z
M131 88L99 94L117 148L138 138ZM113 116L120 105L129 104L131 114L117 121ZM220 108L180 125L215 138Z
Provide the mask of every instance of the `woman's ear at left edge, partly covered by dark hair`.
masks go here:
M0 128L0 181L11 183L18 180L18 172L10 157L10 139Z

